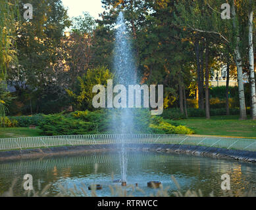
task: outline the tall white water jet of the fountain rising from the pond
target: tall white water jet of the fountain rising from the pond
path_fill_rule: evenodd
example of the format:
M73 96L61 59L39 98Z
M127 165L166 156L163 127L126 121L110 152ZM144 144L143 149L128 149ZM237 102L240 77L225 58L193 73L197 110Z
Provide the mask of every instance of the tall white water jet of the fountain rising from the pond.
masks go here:
M129 38L124 15L120 12L116 21L114 69L116 83L122 84L126 88L128 88L128 85L135 85L136 83L136 65ZM113 126L118 128L116 132L122 134L132 133L132 127L134 126L132 108L120 108L119 114L120 116L113 115ZM125 139L121 138L120 141L122 186L126 186L127 152L124 146Z

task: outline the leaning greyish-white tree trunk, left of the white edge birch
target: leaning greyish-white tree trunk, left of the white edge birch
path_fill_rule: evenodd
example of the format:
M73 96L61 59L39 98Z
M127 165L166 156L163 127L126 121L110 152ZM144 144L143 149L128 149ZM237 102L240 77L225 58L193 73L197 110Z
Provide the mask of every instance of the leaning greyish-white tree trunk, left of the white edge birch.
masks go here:
M238 91L239 91L239 102L240 102L240 119L247 119L246 116L246 106L245 106L245 95L243 89L243 70L242 70L242 57L240 54L240 36L239 36L239 28L237 24L237 16L236 16L236 9L235 3L233 1L232 5L232 15L233 15L233 26L234 30L236 31L236 49L234 51L235 60L236 60L236 67L238 71Z

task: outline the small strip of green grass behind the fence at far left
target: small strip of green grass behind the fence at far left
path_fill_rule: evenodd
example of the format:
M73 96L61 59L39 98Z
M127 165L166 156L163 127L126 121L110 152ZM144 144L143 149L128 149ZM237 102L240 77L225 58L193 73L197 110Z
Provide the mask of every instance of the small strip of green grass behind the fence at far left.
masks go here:
M39 137L41 130L30 129L29 127L7 127L0 128L0 138L13 138L13 137Z

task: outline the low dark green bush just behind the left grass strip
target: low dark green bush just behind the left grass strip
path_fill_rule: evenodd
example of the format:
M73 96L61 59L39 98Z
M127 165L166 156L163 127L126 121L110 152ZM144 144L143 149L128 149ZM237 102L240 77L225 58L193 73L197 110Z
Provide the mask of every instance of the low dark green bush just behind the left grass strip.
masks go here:
M30 125L36 125L38 126L39 123L43 120L42 114L36 114L34 116L15 116L15 117L9 117L12 120L16 120L17 127L28 127Z

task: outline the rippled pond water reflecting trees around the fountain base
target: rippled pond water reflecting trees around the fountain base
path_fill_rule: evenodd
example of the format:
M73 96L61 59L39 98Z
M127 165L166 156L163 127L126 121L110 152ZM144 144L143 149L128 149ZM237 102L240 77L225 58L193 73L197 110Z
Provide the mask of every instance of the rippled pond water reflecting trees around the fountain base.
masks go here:
M51 184L47 191L49 196L56 196L61 192L61 186L74 188L74 184L78 188L75 192L77 196L84 195L80 188L91 196L88 190L90 184L103 186L102 190L97 190L97 196L117 196L118 190L111 194L109 186L120 186L120 183L113 183L113 180L121 179L119 156L114 152L22 159L0 162L0 194L6 192L13 180L17 179L13 187L14 196L23 196L22 181L26 174L33 176L36 191ZM161 152L128 152L127 183L138 183L143 190L128 188L128 195L132 196L157 194L158 190L147 188L149 181L161 181L163 188L168 188L168 194L174 196L173 192L177 187L171 175L180 184L182 192L200 189L203 196L209 196L211 192L215 196L222 196L220 185L223 174L230 175L231 190L236 196L241 196L245 190L252 189L256 192L256 164L253 163Z

